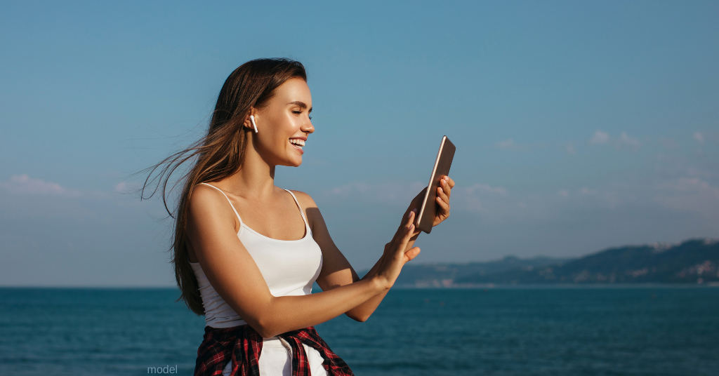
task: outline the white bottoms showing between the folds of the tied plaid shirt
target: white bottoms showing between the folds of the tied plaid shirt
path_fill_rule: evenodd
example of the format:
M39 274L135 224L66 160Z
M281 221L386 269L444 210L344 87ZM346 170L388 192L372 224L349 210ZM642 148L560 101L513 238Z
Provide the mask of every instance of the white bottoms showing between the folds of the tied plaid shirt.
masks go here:
M327 376L327 371L322 367L322 355L306 344L302 344L310 363L310 375ZM291 376L292 375L292 347L284 339L278 336L262 339L262 352L260 352L260 376ZM232 371L232 360L222 371L222 376L229 376Z

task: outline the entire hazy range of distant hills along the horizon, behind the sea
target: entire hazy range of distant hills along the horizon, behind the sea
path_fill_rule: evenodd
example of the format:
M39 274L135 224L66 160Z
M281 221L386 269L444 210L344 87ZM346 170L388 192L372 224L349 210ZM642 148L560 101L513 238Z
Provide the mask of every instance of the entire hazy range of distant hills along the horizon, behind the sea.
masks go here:
M367 270L359 272L360 277ZM452 288L554 283L719 283L719 242L646 244L605 249L577 259L508 256L490 262L412 264L395 286Z

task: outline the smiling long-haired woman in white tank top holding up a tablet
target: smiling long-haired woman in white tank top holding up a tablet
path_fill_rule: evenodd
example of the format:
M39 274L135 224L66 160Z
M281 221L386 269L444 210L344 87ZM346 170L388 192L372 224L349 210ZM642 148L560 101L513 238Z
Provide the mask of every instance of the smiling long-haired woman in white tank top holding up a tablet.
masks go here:
M157 181L152 194L162 185L165 201L173 171L194 163L180 180L173 263L180 299L206 316L195 375L352 375L313 326L342 313L367 320L420 252L413 221L424 192L360 280L313 199L274 185L275 166L301 165L315 130L306 81L293 60L244 63L225 81L206 136L145 181ZM449 216L453 186L442 178L435 226ZM315 281L323 292L311 293Z

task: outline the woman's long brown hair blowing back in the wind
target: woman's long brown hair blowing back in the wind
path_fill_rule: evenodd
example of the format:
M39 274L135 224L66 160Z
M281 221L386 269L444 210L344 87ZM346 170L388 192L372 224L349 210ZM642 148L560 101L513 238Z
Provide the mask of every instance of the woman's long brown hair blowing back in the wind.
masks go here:
M186 238L188 203L193 187L198 183L222 180L242 168L248 132L243 125L244 119L252 107L258 109L267 104L275 89L290 78L307 81L302 63L273 58L251 60L240 65L229 75L220 90L206 136L141 172L147 173L147 178L140 190L140 199L151 198L160 191L165 210L175 219L170 251L175 266L175 280L182 292L178 301L185 301L188 308L198 315L204 314L204 308L197 279L190 267ZM168 191L170 176L188 161L192 167ZM152 185L155 188L151 190ZM178 185L183 188L177 207L170 210L168 194ZM149 193L147 196L145 191Z

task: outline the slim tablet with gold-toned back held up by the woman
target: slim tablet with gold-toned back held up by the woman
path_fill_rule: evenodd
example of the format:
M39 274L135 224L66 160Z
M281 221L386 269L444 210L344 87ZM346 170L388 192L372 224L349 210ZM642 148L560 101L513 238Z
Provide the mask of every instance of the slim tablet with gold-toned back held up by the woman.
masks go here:
M439 203L436 202L439 180L444 175L449 176L449 168L452 166L454 150L457 150L454 144L452 144L446 136L442 137L437 159L434 161L434 168L432 168L432 174L429 175L427 192L424 195L422 206L419 207L419 214L417 215L417 223L415 225L427 234L432 231L434 216L439 209Z

